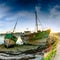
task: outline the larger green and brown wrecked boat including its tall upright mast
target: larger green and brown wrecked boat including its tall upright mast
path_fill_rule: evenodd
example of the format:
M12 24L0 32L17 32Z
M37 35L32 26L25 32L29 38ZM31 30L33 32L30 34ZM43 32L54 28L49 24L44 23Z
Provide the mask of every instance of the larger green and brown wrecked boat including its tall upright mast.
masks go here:
M47 38L50 34L50 29L40 31L38 30L38 19L37 19L37 11L35 10L35 20L36 20L36 32L31 33L31 31L25 31L21 35L21 39L24 44L33 44L33 45L40 45L46 44Z

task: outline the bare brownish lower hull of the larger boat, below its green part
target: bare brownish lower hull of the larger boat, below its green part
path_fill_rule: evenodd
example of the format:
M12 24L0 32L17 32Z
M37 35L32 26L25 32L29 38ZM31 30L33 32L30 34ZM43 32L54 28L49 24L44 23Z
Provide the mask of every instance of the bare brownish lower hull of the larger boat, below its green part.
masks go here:
M38 39L38 40L25 40L22 39L24 44L31 44L31 45L46 45L48 38Z

